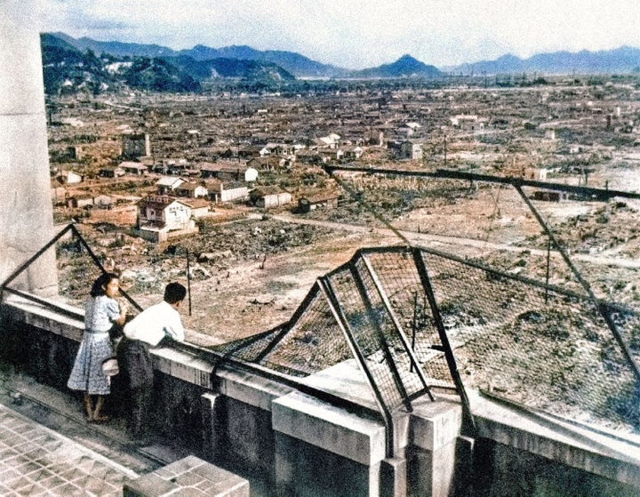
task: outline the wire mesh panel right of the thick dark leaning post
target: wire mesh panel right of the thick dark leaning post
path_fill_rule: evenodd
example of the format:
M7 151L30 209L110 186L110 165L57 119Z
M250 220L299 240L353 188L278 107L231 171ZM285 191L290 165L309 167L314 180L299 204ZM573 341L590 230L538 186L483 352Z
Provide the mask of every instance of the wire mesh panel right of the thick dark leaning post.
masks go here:
M422 257L466 386L637 429L638 379L596 302L440 254ZM619 325L637 354L638 317L624 315Z

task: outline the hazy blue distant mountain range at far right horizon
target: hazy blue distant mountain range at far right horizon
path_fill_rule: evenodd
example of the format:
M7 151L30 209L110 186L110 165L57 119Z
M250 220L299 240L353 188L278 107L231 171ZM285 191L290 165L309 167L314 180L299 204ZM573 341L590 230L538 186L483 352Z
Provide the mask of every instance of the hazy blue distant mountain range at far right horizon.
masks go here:
M473 64L461 64L446 68L454 74L505 74L538 72L540 74L599 74L629 73L640 71L640 50L622 46L600 52L539 53L529 59L515 55L503 55L497 60L482 60Z

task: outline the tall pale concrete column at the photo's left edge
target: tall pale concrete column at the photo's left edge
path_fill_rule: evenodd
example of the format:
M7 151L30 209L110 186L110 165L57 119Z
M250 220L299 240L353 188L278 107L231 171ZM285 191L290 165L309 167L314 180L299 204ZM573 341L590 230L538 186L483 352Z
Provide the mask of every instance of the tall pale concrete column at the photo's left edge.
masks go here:
M20 4L23 15L12 12L14 4L0 15L0 283L53 236L40 36L24 8L33 2ZM11 286L57 293L54 250Z

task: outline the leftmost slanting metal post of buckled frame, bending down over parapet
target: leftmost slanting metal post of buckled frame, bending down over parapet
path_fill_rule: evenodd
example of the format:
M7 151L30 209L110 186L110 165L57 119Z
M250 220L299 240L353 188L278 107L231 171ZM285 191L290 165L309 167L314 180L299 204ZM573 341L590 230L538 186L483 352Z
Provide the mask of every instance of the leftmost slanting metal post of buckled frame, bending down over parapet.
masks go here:
M361 371L364 373L364 377L369 382L369 386L373 391L373 397L375 398L376 404L380 409L380 414L382 416L382 420L385 424L385 431L387 433L387 437L385 437L385 455L387 457L393 457L394 455L394 430L393 430L393 417L391 416L391 412L388 409L388 406L385 404L384 399L380 393L380 389L376 385L376 382L373 380L373 376L371 371L366 365L366 359L364 358L362 351L357 345L356 339L351 333L351 329L349 328L347 317L342 313L340 309L340 302L333 291L333 287L331 281L328 277L320 277L318 279L318 283L320 286L320 291L324 294L327 303L329 304L329 309L331 309L333 317L335 317L336 322L340 326L340 330L345 336L347 340L349 349L353 353L356 358L357 364L360 366Z

